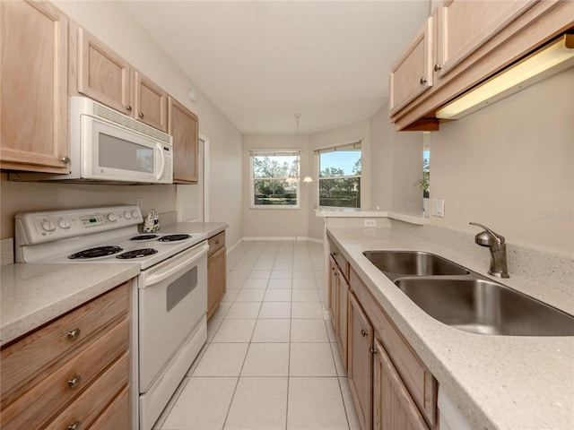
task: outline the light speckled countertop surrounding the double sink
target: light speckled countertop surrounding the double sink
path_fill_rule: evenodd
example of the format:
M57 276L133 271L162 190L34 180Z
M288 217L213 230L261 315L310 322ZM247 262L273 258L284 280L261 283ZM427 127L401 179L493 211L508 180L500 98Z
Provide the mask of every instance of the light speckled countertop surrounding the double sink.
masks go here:
M365 284L476 429L573 429L574 337L491 336L439 323L362 252L410 249L439 254L486 275L469 257L390 228L328 228ZM493 279L493 278L492 278ZM512 276L502 283L574 314L571 297Z

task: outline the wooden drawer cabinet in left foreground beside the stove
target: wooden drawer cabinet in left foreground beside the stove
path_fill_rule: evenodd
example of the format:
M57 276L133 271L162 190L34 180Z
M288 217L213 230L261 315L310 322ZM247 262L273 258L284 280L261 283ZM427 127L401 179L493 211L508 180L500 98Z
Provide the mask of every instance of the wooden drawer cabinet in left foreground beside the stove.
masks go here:
M3 430L129 428L129 285L2 348Z

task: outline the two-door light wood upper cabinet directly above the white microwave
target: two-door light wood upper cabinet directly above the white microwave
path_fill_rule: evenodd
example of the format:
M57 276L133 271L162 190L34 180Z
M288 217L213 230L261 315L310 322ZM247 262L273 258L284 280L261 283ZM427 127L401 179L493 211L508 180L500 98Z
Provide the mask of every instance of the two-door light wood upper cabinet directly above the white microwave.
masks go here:
M70 92L77 90L167 133L168 94L88 31L78 27L76 32L77 40L71 43L77 50L77 69L72 56L71 74L75 72L77 80L72 76Z

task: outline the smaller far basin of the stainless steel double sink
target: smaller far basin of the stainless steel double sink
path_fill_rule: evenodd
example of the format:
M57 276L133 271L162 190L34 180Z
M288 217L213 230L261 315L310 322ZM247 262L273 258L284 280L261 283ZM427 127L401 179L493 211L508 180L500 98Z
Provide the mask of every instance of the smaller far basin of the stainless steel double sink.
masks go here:
M466 275L464 267L422 251L365 251L362 253L391 280L402 276Z

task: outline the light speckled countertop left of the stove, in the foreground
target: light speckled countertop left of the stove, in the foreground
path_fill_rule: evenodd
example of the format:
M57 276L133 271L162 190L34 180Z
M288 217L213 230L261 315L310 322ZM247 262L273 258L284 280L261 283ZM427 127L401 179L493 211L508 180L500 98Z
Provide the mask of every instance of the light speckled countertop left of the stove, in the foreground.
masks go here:
M34 330L140 272L139 264L6 264L0 284L0 344Z

